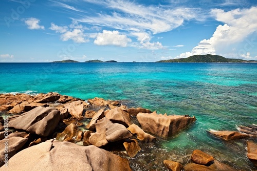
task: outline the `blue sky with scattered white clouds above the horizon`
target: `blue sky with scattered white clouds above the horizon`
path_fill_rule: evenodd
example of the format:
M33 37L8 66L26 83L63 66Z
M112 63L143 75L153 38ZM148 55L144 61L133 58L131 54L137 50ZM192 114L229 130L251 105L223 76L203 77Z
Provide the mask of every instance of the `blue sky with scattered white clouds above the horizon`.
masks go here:
M203 54L257 60L257 1L0 1L0 62Z

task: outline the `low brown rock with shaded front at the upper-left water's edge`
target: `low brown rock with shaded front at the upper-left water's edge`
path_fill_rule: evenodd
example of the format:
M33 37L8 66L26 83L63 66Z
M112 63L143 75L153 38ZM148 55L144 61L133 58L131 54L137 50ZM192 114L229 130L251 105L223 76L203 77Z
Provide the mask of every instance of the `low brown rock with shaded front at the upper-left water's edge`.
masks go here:
M47 94L40 93L33 98L36 103L49 103L59 100L61 95L59 93L50 92Z

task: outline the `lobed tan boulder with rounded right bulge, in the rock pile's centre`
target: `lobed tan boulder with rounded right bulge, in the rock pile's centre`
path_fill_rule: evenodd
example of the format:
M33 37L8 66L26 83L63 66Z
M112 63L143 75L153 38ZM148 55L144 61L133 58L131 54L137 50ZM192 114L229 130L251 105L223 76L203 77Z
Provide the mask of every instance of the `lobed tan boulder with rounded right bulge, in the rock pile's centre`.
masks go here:
M132 134L124 125L113 123L106 117L98 120L95 126L96 133L91 133L88 141L98 147L104 146L108 142L115 142L132 137Z

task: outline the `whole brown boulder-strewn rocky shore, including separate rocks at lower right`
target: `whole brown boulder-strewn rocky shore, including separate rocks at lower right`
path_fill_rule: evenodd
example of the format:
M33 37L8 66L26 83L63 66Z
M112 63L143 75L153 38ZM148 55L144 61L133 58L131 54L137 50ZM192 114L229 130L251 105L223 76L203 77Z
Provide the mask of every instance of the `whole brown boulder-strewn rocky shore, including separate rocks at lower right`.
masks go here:
M149 170L134 169L132 159L196 121L52 92L0 94L0 112L0 170ZM209 133L224 141L249 139L243 153L257 166L256 125ZM199 149L188 158L184 165L172 157L157 164L168 170L236 170Z

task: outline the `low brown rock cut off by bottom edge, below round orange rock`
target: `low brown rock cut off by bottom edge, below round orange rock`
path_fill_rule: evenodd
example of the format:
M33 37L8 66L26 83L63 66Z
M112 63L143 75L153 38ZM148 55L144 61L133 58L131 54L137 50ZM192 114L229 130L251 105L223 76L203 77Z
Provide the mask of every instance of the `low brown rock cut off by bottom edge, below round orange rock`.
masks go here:
M224 170L224 171L236 171L233 167L218 162L217 160L214 160L214 163L211 164L210 166L205 166L201 164L195 164L195 163L189 163L184 166L185 171L219 171L219 170Z

